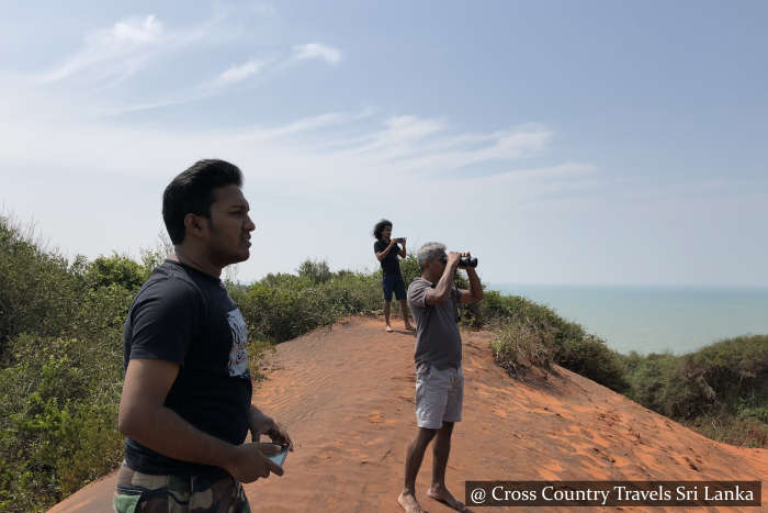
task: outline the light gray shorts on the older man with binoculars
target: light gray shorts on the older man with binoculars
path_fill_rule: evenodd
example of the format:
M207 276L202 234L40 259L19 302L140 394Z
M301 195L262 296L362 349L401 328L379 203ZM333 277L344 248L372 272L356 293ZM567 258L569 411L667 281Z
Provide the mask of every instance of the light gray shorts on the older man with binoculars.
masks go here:
M439 430L443 422L460 422L464 401L464 372L459 368L416 367L416 423Z

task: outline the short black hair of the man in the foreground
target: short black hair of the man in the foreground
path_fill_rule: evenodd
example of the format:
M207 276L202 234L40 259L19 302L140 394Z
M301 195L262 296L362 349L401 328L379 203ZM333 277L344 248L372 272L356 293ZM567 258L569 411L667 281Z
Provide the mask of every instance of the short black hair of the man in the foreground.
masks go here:
M242 172L225 160L197 160L179 174L162 193L162 220L173 244L184 242L187 214L211 219L213 191L219 187L242 186Z

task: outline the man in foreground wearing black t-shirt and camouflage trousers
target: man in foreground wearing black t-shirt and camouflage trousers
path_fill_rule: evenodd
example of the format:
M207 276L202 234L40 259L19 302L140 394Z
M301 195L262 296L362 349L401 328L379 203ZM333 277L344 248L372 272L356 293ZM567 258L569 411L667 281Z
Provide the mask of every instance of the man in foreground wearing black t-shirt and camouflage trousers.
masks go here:
M126 436L114 505L127 511L249 512L241 482L282 476L268 456L287 434L250 403L248 331L219 279L246 260L256 226L240 170L201 160L166 188L176 255L128 311L118 428ZM252 443L244 444L248 431Z

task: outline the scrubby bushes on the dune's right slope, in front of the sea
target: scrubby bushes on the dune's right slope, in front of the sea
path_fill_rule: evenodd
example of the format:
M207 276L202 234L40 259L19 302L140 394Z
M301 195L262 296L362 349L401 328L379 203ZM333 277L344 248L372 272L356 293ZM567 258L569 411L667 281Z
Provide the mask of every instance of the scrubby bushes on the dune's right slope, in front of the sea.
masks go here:
M557 364L710 438L768 447L768 335L721 341L687 355L622 355L551 309L486 292L496 361L512 376Z

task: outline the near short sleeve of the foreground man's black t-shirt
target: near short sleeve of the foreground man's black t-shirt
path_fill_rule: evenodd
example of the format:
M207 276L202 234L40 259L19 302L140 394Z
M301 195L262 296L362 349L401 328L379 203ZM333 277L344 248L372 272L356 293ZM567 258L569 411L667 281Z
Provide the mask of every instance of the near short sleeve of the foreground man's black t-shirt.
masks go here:
M165 280L143 290L131 313L131 359L150 358L184 364L197 331L201 299L181 280Z

